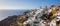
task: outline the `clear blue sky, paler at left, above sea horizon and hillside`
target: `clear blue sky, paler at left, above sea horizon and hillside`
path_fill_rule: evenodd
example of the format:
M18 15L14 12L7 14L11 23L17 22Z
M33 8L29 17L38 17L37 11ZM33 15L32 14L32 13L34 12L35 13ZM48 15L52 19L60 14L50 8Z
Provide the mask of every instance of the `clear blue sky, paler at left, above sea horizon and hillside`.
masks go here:
M60 4L60 0L0 0L0 9L34 9Z

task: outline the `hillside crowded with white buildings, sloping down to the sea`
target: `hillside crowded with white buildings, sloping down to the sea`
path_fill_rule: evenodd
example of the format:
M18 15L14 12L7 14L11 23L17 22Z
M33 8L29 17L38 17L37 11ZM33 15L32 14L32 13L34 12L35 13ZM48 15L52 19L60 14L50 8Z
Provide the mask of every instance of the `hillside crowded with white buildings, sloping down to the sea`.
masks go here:
M60 20L57 17L59 16L58 13L60 13L60 5L29 10L22 15L8 16L8 18L0 21L0 26L56 26L53 23Z

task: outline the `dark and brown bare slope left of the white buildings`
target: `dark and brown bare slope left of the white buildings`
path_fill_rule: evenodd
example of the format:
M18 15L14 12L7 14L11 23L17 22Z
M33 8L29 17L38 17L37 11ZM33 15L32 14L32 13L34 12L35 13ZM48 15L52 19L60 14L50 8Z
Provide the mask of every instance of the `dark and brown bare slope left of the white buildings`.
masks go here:
M0 26L23 26L23 22L26 21L26 15L22 16L9 16L8 18L0 21Z

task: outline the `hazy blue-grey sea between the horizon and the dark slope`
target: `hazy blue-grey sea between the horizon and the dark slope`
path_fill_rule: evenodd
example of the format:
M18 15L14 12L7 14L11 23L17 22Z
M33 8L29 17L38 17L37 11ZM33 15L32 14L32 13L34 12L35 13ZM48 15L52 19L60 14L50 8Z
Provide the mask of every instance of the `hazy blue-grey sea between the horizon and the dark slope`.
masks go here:
M13 15L22 15L26 10L0 10L0 21Z

